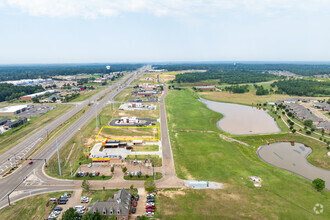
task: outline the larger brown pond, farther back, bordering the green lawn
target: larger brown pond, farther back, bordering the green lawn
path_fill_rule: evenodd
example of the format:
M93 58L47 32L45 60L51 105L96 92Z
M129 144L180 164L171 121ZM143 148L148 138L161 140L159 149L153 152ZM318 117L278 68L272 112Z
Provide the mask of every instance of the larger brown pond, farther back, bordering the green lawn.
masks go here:
M274 118L256 107L200 99L207 107L224 115L217 126L230 134L267 134L280 132Z

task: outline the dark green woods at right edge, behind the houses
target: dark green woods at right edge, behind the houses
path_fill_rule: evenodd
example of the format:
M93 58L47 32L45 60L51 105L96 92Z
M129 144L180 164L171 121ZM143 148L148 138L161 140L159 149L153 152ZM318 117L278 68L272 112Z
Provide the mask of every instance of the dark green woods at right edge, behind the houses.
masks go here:
M297 96L329 96L330 81L319 82L315 80L289 79L274 82L277 93L286 93Z

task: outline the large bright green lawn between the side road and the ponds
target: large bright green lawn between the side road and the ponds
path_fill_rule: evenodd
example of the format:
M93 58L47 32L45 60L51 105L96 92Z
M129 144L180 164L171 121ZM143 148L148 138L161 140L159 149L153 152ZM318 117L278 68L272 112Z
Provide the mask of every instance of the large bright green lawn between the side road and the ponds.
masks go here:
M221 115L207 109L191 92L170 91L166 105L178 176L221 182L225 188L161 193L157 217L327 219L330 215L329 192L316 192L310 181L264 163L256 148L224 141L217 133L199 132L216 131ZM261 177L262 187L254 187L249 176ZM320 215L313 211L316 203L325 206Z

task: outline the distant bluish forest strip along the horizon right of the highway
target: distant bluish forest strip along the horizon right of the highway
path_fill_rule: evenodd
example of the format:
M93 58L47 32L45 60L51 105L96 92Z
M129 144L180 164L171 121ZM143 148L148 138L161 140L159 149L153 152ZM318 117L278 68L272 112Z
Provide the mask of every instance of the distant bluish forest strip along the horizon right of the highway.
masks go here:
M289 71L302 76L330 74L330 65L326 64L265 64L265 63L185 63L153 65L154 68L178 70L241 70L241 71Z

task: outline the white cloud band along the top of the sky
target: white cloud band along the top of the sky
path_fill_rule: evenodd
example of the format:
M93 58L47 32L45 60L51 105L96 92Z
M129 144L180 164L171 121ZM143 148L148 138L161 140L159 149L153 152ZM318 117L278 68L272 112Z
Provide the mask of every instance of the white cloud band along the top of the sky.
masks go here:
M97 18L121 13L156 16L248 12L274 15L329 11L329 0L0 0L33 16Z

